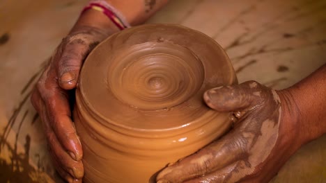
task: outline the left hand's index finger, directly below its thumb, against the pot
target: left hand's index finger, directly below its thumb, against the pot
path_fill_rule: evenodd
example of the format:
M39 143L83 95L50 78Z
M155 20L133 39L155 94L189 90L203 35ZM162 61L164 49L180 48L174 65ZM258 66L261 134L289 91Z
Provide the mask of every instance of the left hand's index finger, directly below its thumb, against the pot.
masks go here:
M61 90L61 92L58 90ZM72 159L80 161L83 157L83 150L71 120L67 93L63 89L52 92L47 98L46 109L49 116L51 116L51 127L59 142Z

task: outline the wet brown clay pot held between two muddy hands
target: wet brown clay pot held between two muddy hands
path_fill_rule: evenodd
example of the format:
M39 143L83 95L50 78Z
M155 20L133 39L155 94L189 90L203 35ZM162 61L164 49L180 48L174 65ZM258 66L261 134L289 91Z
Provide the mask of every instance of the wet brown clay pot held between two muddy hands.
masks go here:
M217 139L231 114L210 110L203 93L235 82L221 46L196 30L148 24L111 35L88 55L76 92L84 182L150 182Z

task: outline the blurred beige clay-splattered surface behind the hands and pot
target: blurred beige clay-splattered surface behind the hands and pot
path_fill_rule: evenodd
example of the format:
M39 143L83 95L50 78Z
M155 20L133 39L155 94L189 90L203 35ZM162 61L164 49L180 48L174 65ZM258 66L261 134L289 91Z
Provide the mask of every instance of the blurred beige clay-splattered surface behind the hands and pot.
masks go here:
M29 96L86 2L0 0L0 182L61 182ZM148 23L209 35L240 82L284 89L326 63L325 0L174 0ZM271 182L326 182L326 135L298 150Z

